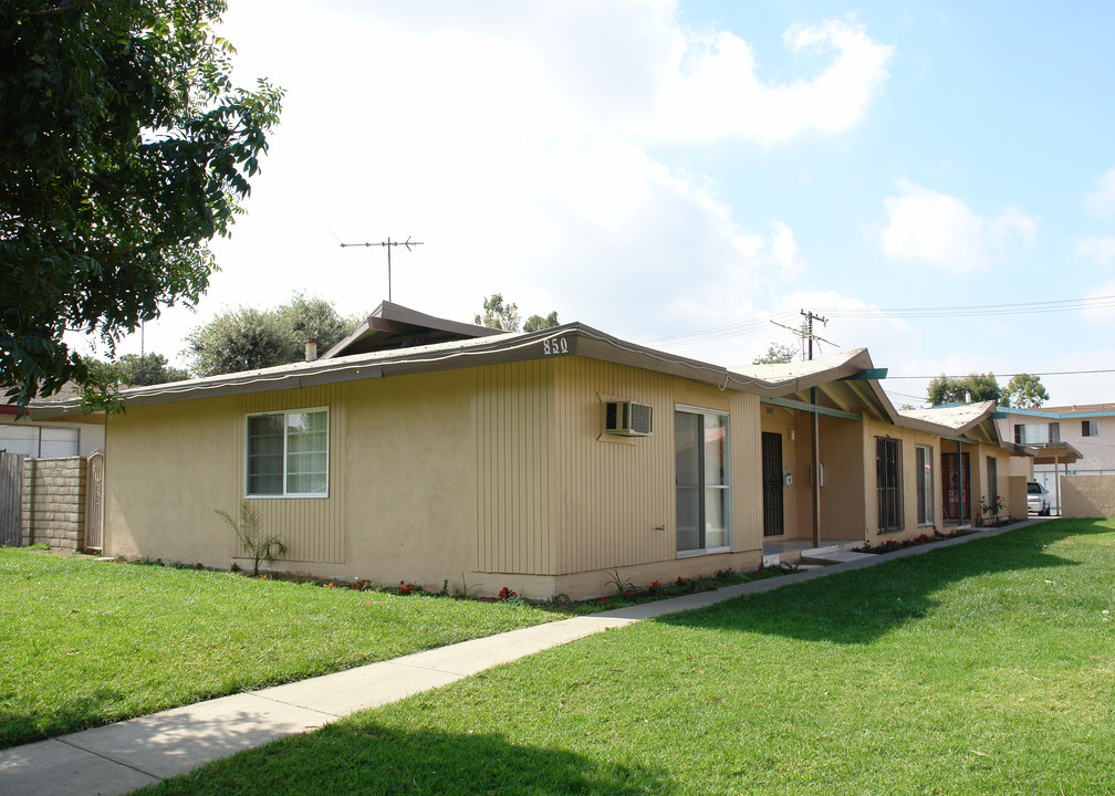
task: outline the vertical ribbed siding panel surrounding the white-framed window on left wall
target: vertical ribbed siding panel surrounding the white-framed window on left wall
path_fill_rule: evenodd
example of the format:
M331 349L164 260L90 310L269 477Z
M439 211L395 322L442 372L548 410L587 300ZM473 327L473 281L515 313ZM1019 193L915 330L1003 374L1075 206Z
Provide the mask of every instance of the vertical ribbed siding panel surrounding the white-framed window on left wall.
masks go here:
M244 496L244 453L248 415L329 407L329 497L251 498L259 508L264 530L282 534L284 561L340 564L346 560L345 532L345 409L340 395L343 385L323 385L298 390L256 392L237 397L236 477L239 496ZM239 501L237 501L239 502Z

